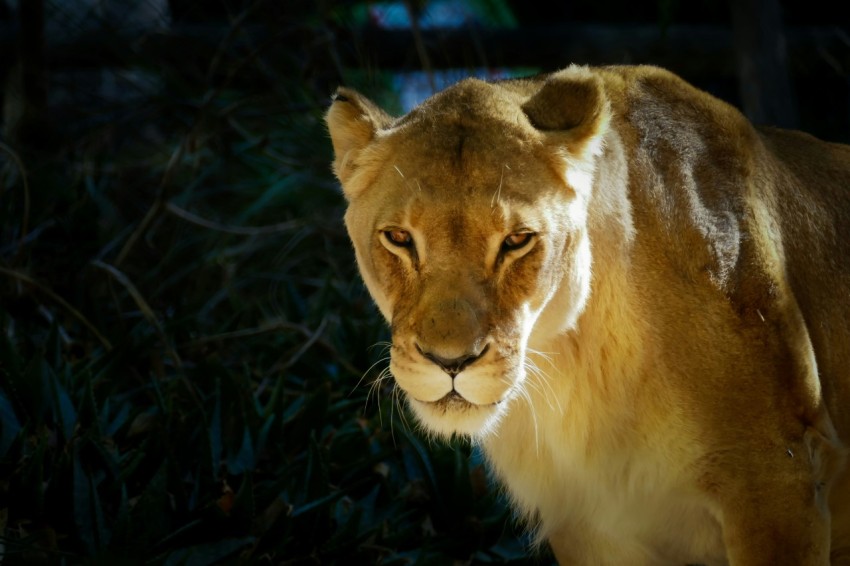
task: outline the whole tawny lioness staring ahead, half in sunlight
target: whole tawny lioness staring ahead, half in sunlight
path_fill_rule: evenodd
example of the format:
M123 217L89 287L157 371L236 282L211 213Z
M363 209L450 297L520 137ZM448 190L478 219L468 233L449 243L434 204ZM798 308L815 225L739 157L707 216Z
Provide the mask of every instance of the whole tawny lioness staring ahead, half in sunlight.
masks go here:
M648 66L327 124L395 380L560 563L850 562L850 147Z

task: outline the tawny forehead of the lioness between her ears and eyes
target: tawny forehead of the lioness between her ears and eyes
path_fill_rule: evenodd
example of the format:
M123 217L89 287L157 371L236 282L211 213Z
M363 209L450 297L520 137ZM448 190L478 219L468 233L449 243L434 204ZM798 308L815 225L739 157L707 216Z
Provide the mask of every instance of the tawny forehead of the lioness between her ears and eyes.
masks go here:
M512 231L546 228L571 194L533 141L497 122L416 120L378 143L375 228L418 230L430 247L483 253Z

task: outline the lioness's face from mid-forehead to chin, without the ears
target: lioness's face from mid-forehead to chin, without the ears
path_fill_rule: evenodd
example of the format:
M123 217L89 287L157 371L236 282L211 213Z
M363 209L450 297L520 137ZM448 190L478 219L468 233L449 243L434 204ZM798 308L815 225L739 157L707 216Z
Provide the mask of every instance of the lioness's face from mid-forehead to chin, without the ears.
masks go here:
M346 215L391 324L391 372L435 431L492 425L522 387L544 307L564 295L573 319L587 292L581 199L523 153L445 156L437 174L416 155L396 155Z

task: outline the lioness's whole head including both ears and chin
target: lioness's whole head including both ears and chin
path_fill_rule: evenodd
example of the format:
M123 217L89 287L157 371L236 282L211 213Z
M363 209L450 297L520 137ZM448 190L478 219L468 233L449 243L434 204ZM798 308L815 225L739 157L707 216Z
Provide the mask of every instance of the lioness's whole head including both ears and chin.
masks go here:
M390 369L429 430L481 436L522 395L529 348L590 290L588 200L609 105L572 67L464 80L400 118L340 89L334 171Z

